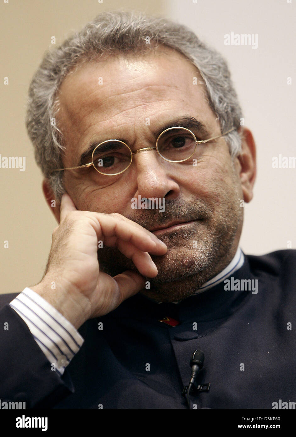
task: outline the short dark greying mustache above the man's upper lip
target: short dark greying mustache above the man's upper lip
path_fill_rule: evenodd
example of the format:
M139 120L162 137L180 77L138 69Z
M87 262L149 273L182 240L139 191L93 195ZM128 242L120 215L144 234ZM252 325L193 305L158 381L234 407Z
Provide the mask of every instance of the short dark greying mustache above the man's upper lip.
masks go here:
M139 213L134 213L134 211L125 217L148 230L156 226L164 226L174 220L190 222L192 220L207 220L212 216L212 208L201 199L166 200L164 212L159 212L157 209L142 209Z

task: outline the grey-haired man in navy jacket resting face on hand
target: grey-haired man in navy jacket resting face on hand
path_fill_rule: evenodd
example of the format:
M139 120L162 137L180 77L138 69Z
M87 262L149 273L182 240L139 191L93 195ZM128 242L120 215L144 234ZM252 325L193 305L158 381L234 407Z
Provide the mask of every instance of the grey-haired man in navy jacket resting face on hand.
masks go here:
M45 55L27 128L59 225L42 281L2 297L2 400L295 401L296 255L239 249L256 173L241 118L221 56L168 20L101 14Z

